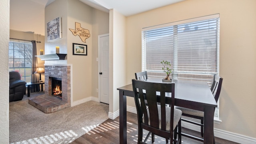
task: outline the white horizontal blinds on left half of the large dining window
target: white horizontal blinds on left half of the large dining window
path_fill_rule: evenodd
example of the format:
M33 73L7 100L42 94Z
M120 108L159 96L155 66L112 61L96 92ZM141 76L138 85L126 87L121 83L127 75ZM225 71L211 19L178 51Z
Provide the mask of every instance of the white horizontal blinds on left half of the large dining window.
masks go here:
M162 77L162 60L173 60L173 26L142 32L142 68L149 76Z

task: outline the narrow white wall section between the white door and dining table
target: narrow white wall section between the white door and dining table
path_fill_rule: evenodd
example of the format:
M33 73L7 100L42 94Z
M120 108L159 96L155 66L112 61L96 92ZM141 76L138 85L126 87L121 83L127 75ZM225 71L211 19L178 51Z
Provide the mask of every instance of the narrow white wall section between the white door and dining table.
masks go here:
M110 112L119 110L119 92L117 88L126 85L126 17L110 10ZM115 118L115 116L114 116Z

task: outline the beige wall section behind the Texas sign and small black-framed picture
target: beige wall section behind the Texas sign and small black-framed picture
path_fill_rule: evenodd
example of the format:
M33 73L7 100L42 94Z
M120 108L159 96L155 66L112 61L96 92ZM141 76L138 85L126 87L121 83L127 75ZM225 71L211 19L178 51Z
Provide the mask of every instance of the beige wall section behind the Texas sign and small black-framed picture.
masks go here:
M79 0L68 0L68 64L73 66L73 102L92 96L92 7ZM74 36L69 28L75 29L75 22L88 29L90 37L86 43ZM73 55L72 43L86 44L87 56Z

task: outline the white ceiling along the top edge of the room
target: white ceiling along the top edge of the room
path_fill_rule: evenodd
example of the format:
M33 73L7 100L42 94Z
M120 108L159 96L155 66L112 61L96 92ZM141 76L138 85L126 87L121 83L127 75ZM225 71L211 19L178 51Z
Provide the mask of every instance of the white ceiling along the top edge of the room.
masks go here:
M47 6L54 0L32 0L39 4ZM131 16L148 10L160 8L184 0L80 0L85 4L108 12L110 9L115 9L124 16Z

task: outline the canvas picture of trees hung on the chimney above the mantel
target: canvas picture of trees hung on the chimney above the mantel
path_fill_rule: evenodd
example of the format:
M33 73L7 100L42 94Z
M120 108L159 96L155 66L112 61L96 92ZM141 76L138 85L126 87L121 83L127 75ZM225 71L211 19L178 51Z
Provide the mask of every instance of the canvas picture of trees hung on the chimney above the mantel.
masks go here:
M61 18L47 22L47 42L61 38Z

